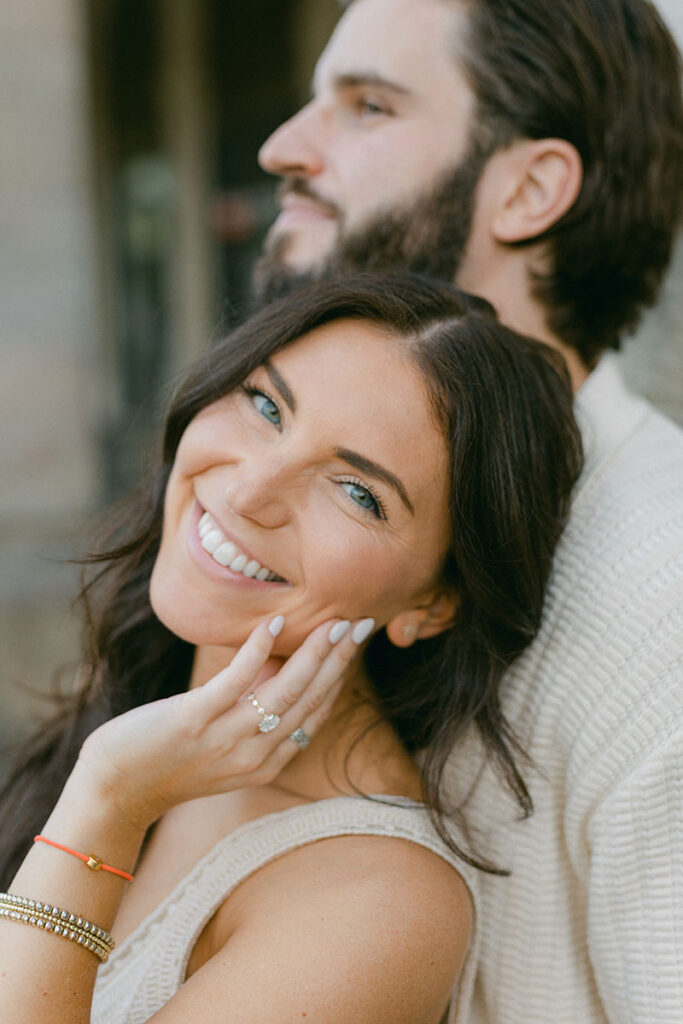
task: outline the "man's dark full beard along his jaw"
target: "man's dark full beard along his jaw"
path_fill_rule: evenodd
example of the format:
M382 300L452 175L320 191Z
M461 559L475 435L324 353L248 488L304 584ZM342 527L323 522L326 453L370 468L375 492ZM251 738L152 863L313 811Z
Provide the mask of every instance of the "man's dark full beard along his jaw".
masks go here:
M490 153L474 145L468 157L410 205L377 214L364 227L344 234L317 267L294 270L279 238L254 267L253 291L261 305L304 285L359 270L414 270L453 283L461 264L474 215L476 187Z

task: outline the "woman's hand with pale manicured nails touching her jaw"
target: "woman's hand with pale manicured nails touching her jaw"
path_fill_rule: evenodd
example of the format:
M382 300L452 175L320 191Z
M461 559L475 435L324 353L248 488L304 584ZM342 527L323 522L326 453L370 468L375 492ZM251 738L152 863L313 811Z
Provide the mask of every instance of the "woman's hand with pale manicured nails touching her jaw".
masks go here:
M84 743L75 773L87 773L100 799L138 828L183 801L270 782L298 753L290 733L302 728L312 736L325 721L374 626L328 622L288 660L267 664L282 622L258 626L204 686L100 726ZM252 692L281 718L270 732L259 731L262 716L247 699Z

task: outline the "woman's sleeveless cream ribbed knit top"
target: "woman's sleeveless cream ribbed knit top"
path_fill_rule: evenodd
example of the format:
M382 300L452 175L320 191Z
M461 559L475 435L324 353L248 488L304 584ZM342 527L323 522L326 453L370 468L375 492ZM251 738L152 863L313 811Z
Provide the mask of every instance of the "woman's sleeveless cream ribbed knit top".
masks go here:
M316 840L351 835L390 836L432 850L463 876L476 905L477 872L451 853L424 809L412 801L338 797L266 814L220 840L115 949L97 974L91 1024L144 1024L178 990L202 930L241 882L290 850ZM475 950L476 924L458 986L458 993L467 1004L471 998ZM267 959L267 949L263 957ZM454 993L451 1020L458 997ZM229 1019L226 1007L225 1021Z

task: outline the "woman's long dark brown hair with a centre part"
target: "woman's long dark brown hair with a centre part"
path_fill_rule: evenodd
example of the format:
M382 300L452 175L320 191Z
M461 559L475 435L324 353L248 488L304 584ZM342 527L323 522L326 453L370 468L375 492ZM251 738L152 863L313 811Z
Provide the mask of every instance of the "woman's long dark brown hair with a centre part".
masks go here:
M502 327L482 300L417 275L360 274L311 286L261 310L208 351L180 386L159 470L119 511L108 550L88 559L81 685L24 748L0 793L5 882L92 729L188 685L194 647L157 618L148 595L166 481L188 423L286 345L345 317L379 325L412 353L450 455L452 543L442 572L460 595L458 617L446 633L408 649L393 647L384 631L374 637L367 667L382 715L409 752L426 752L425 801L444 838L441 775L470 726L521 811L530 811L499 687L539 628L582 465L567 374L559 355ZM377 386L390 388L391 381ZM447 842L469 862L495 869Z

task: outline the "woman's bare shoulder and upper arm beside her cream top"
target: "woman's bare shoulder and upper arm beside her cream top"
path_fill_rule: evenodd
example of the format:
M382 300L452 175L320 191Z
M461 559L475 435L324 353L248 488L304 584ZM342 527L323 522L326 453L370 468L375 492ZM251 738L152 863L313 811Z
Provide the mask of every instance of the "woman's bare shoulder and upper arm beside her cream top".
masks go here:
M462 876L433 849L398 836L338 835L245 880L216 914L197 981L204 975L224 986L227 998L243 973L246 981L267 961L281 997L292 988L298 1016L435 1022L465 961L472 919ZM271 1012L253 998L254 1019Z

